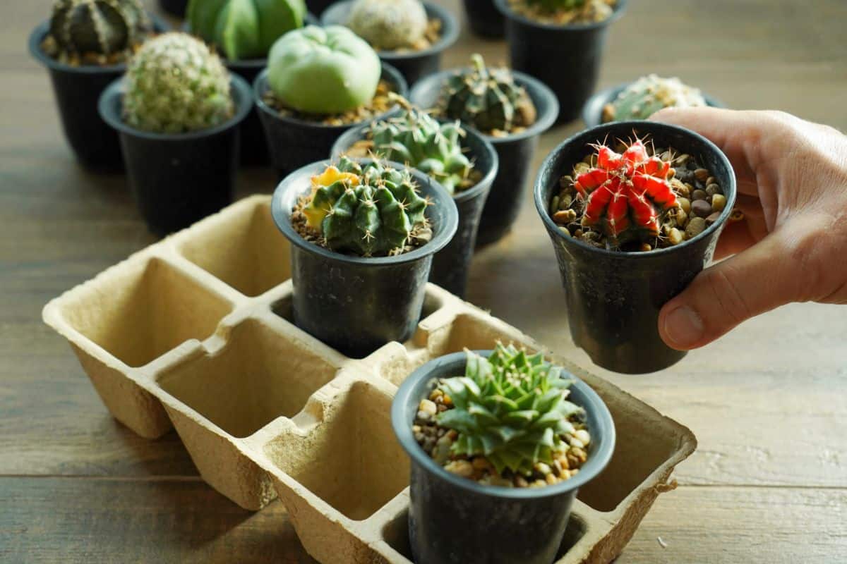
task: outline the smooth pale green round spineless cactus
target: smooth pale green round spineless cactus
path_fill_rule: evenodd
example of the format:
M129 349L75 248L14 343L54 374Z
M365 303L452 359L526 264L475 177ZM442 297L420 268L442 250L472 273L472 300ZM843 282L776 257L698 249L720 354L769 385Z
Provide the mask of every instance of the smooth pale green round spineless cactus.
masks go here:
M307 25L280 37L268 58L268 85L298 112L348 112L374 99L382 68L368 43L340 25Z

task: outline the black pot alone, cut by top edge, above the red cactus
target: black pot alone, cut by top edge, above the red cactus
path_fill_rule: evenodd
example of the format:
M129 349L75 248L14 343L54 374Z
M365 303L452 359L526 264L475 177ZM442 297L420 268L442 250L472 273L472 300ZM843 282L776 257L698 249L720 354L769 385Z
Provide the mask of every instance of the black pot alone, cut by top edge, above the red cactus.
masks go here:
M540 79L559 99L559 122L579 117L597 84L606 30L623 15L627 0L617 0L612 17L596 24L551 25L516 14L508 0L494 0L506 17L512 68Z

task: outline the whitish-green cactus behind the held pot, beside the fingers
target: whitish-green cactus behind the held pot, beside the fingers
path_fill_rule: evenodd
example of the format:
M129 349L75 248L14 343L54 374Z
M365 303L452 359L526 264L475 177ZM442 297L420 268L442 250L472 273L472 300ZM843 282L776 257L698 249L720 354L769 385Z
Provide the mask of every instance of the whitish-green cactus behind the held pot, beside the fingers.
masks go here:
M662 79L656 74L641 77L628 85L614 101L603 107L603 121L647 119L663 107L706 106L700 90L677 78Z

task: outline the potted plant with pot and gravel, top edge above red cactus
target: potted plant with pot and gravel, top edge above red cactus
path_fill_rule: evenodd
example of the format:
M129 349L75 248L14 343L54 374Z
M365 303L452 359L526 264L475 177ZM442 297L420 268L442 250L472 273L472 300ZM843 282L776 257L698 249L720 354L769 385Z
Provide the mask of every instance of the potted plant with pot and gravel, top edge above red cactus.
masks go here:
M623 14L627 0L495 3L506 17L512 68L551 87L560 122L579 117L597 83L608 26Z

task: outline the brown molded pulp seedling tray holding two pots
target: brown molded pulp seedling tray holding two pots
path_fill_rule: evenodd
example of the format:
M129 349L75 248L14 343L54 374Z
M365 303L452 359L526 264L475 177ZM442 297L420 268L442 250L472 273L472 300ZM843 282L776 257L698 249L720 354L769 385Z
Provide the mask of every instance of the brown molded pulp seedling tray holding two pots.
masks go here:
M691 452L691 431L432 284L412 339L349 359L291 322L289 244L270 197L241 200L53 299L113 416L139 435L175 427L209 485L258 510L279 496L323 562L408 562L409 464L390 424L421 364L496 341L544 350L606 401L612 463L579 491L560 564L620 554Z

